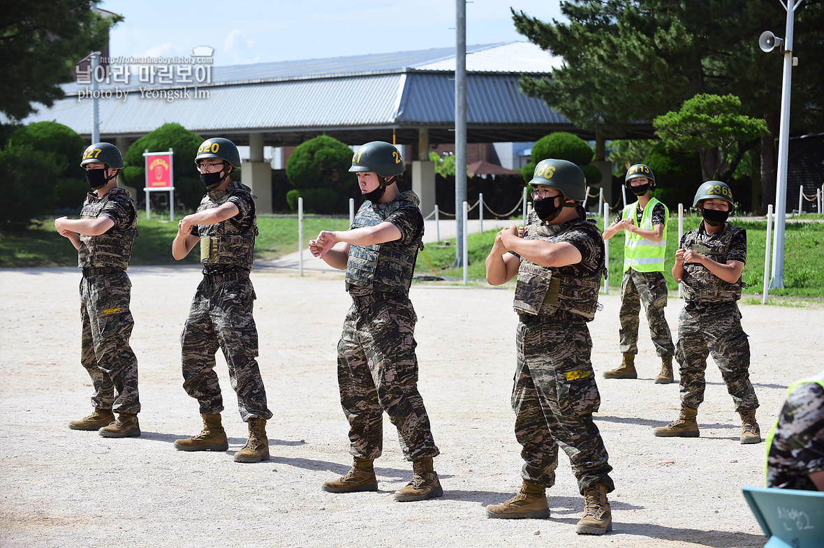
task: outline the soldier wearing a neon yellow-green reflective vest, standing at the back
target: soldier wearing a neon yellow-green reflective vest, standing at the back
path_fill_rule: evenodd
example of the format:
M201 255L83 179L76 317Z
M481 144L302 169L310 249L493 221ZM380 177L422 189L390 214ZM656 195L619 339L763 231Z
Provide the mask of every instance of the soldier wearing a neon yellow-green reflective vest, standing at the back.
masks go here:
M635 164L626 171L624 185L638 196L627 205L615 222L604 231L609 240L618 231L626 231L624 241L624 279L620 291L620 351L624 354L620 367L604 372L606 378L638 378L635 354L638 354L638 328L641 303L647 311L649 334L658 356L661 372L657 384L672 382L672 344L664 307L667 306L667 283L664 281L664 258L667 251L667 206L653 198L655 176L649 166Z

